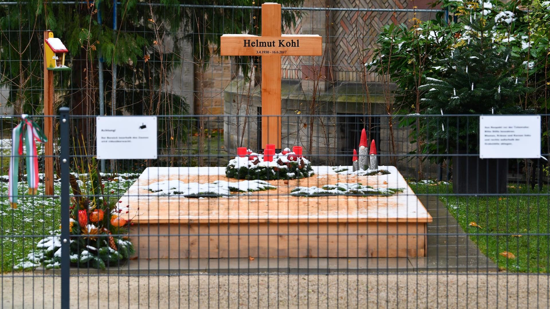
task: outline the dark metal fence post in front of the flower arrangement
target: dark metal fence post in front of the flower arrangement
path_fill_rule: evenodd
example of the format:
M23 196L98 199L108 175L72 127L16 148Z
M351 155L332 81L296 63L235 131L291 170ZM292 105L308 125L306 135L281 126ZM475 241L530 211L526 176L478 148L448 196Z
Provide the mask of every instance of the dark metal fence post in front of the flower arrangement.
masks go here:
M69 308L69 111L68 107L59 108L59 127L61 131L61 307Z

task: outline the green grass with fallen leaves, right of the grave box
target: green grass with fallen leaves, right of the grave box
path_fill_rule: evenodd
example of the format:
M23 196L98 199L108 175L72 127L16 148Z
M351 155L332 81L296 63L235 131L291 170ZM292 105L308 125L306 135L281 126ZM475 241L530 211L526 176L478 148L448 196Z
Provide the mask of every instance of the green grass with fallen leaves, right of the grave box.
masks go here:
M417 194L437 195L481 252L500 269L550 273L548 186L538 192L525 184L510 184L508 195L491 197L456 196L452 185L447 184L411 184L411 187ZM471 222L481 228L471 226ZM515 258L500 255L505 251Z

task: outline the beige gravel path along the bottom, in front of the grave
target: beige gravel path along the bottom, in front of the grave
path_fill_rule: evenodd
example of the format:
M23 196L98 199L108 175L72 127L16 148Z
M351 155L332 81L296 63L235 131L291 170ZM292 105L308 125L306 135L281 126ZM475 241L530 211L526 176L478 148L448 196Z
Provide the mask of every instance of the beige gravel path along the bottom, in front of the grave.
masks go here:
M61 307L58 277L1 280L3 308ZM80 275L70 289L72 308L547 308L549 282L548 275L503 273Z

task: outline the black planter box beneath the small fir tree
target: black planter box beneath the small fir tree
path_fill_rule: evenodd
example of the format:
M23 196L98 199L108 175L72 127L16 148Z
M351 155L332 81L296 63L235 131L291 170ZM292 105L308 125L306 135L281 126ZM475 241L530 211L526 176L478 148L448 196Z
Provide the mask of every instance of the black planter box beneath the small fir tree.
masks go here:
M453 191L456 194L503 194L508 188L508 159L453 156Z

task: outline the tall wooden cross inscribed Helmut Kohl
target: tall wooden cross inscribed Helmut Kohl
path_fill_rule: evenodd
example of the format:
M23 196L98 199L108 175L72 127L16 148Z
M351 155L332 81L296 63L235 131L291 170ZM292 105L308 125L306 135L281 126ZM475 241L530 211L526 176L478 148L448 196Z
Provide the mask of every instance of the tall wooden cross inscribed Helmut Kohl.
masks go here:
M321 56L321 36L281 35L281 4L263 3L262 36L222 35L220 53L262 57L262 146L281 149L281 56Z

